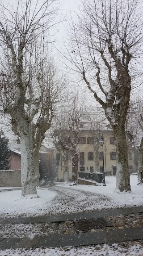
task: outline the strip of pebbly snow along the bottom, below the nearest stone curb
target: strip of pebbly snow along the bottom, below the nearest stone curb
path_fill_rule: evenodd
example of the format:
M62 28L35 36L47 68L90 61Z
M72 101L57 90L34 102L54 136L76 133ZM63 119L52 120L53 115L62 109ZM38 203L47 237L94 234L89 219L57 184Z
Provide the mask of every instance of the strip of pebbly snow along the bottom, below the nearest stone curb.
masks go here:
M85 247L63 247L63 248L37 248L37 249L8 249L0 250L0 256L143 256L141 244L129 243L120 246L114 243Z

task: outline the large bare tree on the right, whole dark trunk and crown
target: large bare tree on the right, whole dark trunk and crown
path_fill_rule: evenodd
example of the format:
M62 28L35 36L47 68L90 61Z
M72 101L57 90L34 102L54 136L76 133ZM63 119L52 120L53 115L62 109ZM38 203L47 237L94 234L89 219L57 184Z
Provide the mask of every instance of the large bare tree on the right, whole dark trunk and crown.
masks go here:
M133 72L130 63L134 65L143 42L142 13L138 0L82 0L82 6L79 21L72 22L69 62L82 75L114 130L116 191L130 191L125 123Z

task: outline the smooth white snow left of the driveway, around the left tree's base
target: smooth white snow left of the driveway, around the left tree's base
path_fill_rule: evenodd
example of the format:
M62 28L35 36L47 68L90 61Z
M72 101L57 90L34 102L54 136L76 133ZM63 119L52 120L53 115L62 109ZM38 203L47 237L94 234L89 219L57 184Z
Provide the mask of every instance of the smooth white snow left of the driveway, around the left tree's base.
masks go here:
M38 189L38 196L25 199L21 198L21 190L0 191L0 216L44 214L45 204L54 199L56 193L49 189Z

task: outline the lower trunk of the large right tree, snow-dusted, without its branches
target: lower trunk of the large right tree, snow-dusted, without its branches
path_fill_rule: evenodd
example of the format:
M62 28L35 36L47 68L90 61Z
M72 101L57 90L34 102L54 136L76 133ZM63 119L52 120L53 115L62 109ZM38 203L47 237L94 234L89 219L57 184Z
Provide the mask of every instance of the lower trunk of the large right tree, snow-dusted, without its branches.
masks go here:
M120 192L131 191L125 127L121 125L114 127L114 136L118 150L116 189L117 192L118 190Z

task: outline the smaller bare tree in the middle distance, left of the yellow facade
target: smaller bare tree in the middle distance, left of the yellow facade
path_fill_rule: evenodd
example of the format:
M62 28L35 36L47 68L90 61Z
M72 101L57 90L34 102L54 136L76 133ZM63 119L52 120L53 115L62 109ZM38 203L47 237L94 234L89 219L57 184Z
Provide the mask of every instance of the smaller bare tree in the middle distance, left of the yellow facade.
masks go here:
M84 112L84 98L80 98L77 92L71 94L71 99L67 99L67 108L62 112L66 120L66 126L63 127L63 121L59 122L57 135L57 145L59 152L71 157L72 162L72 182L78 183L78 162L79 162L79 143L80 143L80 120ZM64 122L65 123L65 122ZM66 159L66 155L63 156ZM67 164L66 164L67 165Z

